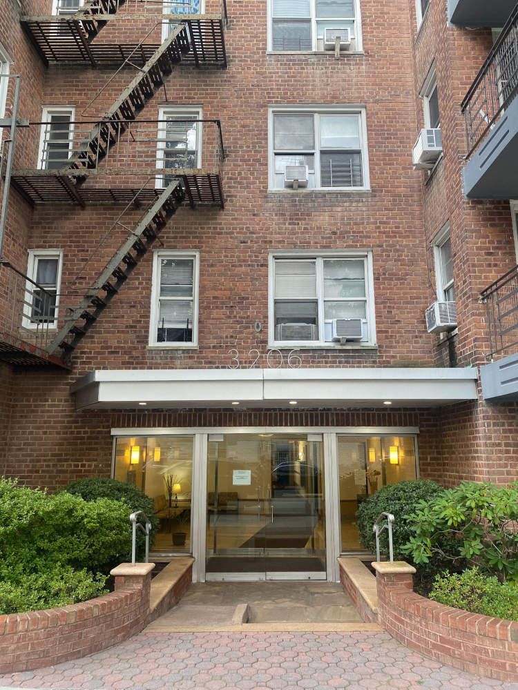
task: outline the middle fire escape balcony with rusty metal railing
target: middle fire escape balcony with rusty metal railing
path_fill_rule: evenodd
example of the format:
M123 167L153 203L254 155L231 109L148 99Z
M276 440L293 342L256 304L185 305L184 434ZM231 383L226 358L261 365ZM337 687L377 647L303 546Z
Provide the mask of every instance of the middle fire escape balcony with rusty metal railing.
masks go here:
M19 130L12 184L30 204L84 206L127 203L155 177L154 192L146 188L149 201L176 177L191 206L222 207L223 161L219 120L54 119Z

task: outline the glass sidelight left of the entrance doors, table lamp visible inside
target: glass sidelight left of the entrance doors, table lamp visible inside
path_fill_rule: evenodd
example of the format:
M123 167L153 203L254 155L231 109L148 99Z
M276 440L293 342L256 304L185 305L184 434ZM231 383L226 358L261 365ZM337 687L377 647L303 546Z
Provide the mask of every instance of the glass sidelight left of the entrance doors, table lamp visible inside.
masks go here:
M191 552L192 437L117 438L115 479L155 500L154 553Z

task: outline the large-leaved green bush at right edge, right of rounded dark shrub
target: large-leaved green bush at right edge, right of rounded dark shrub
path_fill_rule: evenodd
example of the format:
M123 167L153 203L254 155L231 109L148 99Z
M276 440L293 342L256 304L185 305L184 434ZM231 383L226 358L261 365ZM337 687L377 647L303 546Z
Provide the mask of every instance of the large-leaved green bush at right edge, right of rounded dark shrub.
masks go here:
M430 558L458 560L443 549L456 540L459 555L500 582L518 584L518 482L497 487L462 482L432 500L420 501L406 516L414 535L403 547L417 564Z

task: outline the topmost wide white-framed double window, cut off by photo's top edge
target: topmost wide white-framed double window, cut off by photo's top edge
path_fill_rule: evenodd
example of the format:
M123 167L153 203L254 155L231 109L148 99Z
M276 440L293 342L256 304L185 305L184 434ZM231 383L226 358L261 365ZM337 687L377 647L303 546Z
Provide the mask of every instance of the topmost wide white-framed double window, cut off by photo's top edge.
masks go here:
M267 0L267 50L320 52L324 31L349 29L350 50L362 50L360 0Z

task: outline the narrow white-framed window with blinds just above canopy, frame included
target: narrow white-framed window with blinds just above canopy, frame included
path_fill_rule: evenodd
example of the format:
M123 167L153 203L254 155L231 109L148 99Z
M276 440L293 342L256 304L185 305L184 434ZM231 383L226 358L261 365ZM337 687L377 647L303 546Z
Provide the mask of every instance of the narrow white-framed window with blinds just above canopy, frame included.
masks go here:
M199 251L153 253L149 346L198 346L199 284Z

